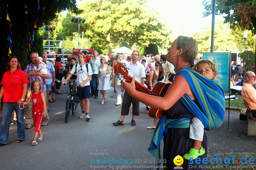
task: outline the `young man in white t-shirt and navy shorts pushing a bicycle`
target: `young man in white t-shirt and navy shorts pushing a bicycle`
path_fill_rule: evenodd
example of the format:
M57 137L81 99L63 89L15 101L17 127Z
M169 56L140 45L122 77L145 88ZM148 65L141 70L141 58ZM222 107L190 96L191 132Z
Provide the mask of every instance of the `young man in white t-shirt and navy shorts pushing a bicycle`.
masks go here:
M70 77L74 74L77 73L77 78L76 78L76 84L80 85L80 87L77 88L78 91L78 98L80 99L80 105L82 109L81 116L79 118L84 118L86 117L86 120L90 120L89 116L89 108L90 108L90 79L92 75L92 69L91 65L88 63L85 63L85 54L84 53L79 53L78 54L78 60L79 63L76 63L72 70L70 71L70 74L68 77L63 81L62 84L66 83L70 79ZM85 116L86 113L86 116Z

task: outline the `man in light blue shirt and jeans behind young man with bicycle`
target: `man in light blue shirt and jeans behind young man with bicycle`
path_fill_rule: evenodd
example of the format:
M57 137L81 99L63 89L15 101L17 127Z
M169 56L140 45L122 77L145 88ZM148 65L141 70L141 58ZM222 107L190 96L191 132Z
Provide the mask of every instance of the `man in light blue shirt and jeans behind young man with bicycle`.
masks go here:
M100 66L100 58L98 57L98 52L94 50L93 52L94 58L92 58L89 62L92 68L92 77L90 81L90 86L91 86L91 97L94 96L94 98L98 98L98 69Z

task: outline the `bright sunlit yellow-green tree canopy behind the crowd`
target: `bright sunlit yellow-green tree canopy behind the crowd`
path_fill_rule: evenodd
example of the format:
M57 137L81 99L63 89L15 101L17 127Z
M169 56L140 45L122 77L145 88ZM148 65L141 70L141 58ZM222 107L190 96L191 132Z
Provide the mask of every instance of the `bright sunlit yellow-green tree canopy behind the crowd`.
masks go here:
M160 22L158 15L146 5L145 0L92 0L83 1L79 8L86 9L80 16L87 17L84 24L80 23L80 32L86 38L96 42L102 50L127 42L129 48L134 44L141 46L154 42L159 46L170 44L170 30ZM78 26L71 23L71 14L63 18L63 30L59 36L72 36L71 31L78 31Z

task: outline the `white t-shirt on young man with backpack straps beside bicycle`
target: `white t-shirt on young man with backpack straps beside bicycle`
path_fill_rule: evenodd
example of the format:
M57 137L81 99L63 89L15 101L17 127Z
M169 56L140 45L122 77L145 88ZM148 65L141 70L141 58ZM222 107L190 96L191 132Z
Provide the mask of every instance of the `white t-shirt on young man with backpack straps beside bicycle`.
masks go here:
M81 85L89 75L92 75L91 65L88 63L88 73L87 73L86 63L82 65L78 63L76 66L76 70L74 65L72 70L70 71L71 74L74 74L75 72L77 73L76 84ZM90 85L90 80L85 83L85 86L88 86L88 85Z

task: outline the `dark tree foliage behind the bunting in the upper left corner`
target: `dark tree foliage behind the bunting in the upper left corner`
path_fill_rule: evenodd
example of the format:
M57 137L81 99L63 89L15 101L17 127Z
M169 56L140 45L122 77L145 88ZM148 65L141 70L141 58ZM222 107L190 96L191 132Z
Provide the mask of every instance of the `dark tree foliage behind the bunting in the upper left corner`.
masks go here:
M69 9L79 12L75 3L75 0L40 0L39 4L41 8L38 12L39 22L37 23L37 27L40 28L44 24L50 23L50 21L56 17L56 13L58 11ZM0 64L0 77L5 72L5 66L9 59L9 42L7 41L7 37L9 35L9 21L5 19L6 5L6 1L0 3L0 32L2 37L2 41L0 41L0 60L1 63L3 63ZM24 69L25 66L31 62L29 59L28 44L30 38L32 37L37 7L38 1L35 0L8 1L8 12L12 24L11 30L13 34L13 36L11 36L13 47L11 52L12 55L16 55L20 59L22 69ZM38 28L34 29L35 35L32 51L42 50L42 38L36 35L38 34Z

